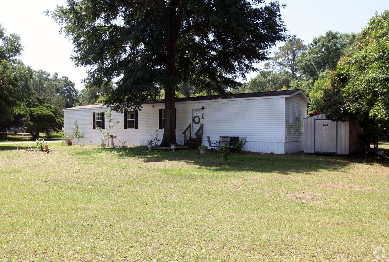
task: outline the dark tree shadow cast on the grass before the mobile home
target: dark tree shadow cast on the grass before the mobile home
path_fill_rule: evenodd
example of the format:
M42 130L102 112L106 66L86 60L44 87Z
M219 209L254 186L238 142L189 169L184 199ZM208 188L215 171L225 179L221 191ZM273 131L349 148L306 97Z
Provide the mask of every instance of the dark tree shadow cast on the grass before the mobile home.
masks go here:
M200 155L199 150L184 149L172 152L172 150L151 150L146 147L92 149L111 150L112 156L119 159L128 157L137 158L142 162L184 161L199 168L210 171L253 171L263 173L290 173L314 172L321 170L336 171L347 168L351 163L380 164L389 167L387 157L375 156L353 157L337 155L307 155L295 154L264 154L254 152L231 152L229 160L223 161L221 154L214 150L206 155ZM389 155L389 152L387 153Z

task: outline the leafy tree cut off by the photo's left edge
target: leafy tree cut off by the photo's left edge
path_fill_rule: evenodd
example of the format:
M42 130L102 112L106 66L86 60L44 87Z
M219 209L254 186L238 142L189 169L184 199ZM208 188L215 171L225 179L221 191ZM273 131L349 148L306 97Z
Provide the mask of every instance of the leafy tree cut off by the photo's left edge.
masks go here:
M5 35L0 25L0 125L11 120L14 112L21 112L32 96L28 86L32 68L18 59L22 51L20 37Z

